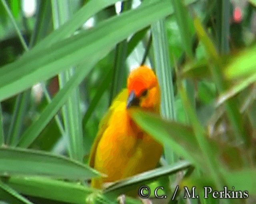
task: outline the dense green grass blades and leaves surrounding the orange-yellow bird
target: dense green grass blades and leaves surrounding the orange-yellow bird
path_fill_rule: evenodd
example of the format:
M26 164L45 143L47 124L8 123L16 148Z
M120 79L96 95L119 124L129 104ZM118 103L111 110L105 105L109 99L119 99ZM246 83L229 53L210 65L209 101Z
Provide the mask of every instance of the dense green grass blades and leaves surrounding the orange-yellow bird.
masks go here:
M25 15L24 1L0 1L0 202L117 203L150 183L167 195L154 203L255 203L256 1L116 2L36 0ZM164 144L161 165L92 189L98 123L142 63L158 76L162 118L132 117ZM203 199L203 186L249 198Z

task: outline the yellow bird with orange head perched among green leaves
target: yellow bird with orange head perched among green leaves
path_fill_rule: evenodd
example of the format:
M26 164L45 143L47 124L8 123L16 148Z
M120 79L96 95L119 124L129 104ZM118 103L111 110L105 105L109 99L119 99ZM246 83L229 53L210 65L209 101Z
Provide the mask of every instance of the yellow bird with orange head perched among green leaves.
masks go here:
M130 108L160 114L160 87L152 69L141 65L130 71L127 88L113 100L100 121L89 155L89 166L105 177L92 178L91 186L126 179L156 168L162 144L143 131L130 117Z

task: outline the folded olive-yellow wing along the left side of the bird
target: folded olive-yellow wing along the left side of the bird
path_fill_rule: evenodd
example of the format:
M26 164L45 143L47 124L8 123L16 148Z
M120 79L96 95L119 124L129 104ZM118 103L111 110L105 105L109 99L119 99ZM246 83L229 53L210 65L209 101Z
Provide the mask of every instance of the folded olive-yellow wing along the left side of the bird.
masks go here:
M103 116L102 120L100 121L100 124L98 126L98 133L94 139L94 143L93 143L92 149L90 151L90 157L89 157L90 167L94 167L95 154L96 154L96 150L98 147L98 143L100 142L100 139L102 138L104 131L109 126L109 118L111 117L114 108L116 108L120 104L120 102L126 101L127 98L128 98L128 90L124 89L118 94L118 96L116 96L116 98L113 100L110 108L108 109L106 114Z

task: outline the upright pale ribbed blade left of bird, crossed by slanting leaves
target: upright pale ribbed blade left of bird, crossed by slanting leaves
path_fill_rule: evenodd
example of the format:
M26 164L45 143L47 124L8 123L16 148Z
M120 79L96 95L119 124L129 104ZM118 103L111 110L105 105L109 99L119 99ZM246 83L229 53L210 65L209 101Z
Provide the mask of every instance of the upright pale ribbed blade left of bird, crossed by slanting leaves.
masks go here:
M52 16L54 29L58 29L62 24L66 23L70 16L71 1L52 0ZM75 67L70 67L58 74L58 84L60 90L65 84L72 78L75 73ZM73 88L70 92L66 103L62 106L62 120L65 129L65 135L68 139L68 153L71 159L76 159L82 162L84 147L83 147L83 135L82 135L82 117L80 114L80 90L79 87Z

